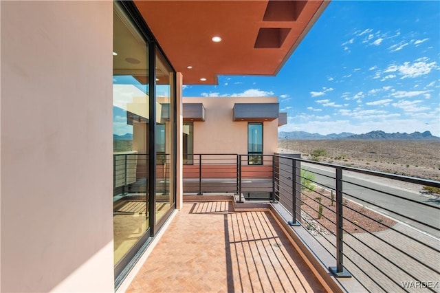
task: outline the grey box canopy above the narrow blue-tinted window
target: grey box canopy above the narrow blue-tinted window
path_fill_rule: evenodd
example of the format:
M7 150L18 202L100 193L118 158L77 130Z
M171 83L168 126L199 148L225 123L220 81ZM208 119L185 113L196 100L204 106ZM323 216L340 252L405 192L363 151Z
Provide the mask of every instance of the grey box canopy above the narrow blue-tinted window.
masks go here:
M263 122L278 118L278 102L235 103L234 121Z

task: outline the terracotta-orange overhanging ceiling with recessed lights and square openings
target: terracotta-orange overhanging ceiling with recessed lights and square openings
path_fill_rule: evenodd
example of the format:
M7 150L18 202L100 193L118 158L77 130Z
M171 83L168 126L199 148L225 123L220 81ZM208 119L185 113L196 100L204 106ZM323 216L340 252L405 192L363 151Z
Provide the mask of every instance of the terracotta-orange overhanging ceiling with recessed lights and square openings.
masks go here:
M328 3L135 1L185 85L217 84L217 75L276 75Z

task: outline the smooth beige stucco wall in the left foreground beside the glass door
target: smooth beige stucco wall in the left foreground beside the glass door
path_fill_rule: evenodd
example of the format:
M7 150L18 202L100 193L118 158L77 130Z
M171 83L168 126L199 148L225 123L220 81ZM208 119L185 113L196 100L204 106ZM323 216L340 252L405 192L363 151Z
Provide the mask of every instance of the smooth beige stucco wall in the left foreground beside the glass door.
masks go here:
M1 1L1 292L112 292L112 1Z

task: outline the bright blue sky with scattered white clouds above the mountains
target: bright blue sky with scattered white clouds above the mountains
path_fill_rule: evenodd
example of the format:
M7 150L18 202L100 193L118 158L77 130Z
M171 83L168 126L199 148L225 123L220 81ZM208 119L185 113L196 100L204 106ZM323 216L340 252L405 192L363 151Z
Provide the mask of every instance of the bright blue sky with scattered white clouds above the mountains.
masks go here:
M439 1L332 1L277 76L219 76L184 96L278 96L279 131L440 136L439 61Z

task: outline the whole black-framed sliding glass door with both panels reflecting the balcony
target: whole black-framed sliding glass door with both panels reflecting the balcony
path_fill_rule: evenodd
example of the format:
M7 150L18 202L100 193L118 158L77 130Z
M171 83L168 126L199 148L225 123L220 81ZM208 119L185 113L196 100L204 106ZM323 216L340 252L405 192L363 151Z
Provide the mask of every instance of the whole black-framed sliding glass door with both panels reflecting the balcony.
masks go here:
M115 275L175 208L175 72L133 19L113 11L113 236Z

